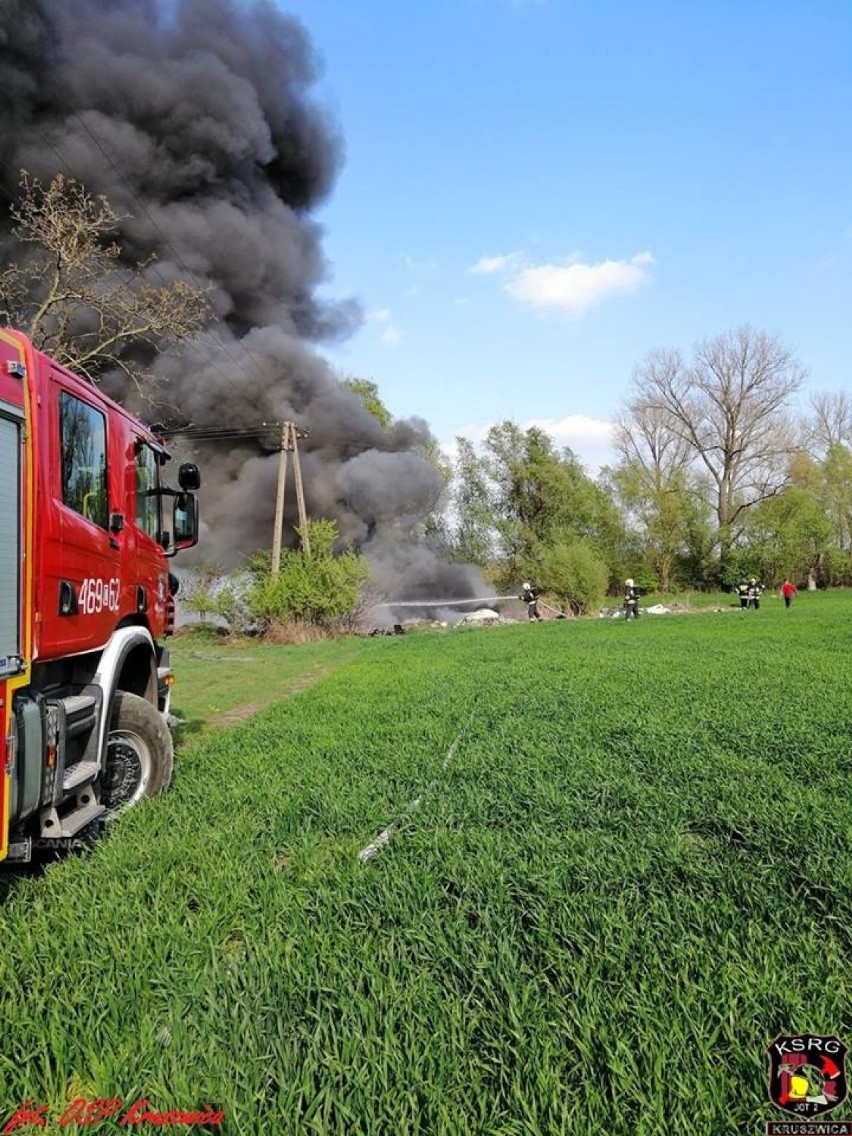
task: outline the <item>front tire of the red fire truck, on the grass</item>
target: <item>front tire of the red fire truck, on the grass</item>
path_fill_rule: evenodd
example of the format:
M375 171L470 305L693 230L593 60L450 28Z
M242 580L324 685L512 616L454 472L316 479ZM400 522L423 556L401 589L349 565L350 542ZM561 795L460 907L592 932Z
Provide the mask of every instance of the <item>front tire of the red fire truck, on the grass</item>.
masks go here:
M127 691L117 691L107 736L107 768L101 804L120 812L145 796L157 796L172 782L172 735L159 710Z

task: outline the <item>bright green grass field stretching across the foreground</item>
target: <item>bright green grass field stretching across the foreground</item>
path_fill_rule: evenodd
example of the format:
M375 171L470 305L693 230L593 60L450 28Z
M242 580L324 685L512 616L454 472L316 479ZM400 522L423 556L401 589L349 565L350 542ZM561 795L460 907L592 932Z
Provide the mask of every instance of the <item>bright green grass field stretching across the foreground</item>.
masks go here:
M173 790L6 884L0 1124L757 1134L777 1034L852 1044L849 595L233 650L175 645Z

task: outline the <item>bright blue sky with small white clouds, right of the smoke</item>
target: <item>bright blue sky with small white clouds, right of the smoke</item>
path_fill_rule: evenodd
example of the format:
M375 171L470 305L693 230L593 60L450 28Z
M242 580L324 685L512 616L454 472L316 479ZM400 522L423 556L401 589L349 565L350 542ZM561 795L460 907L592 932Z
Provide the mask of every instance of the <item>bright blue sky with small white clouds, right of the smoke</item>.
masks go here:
M325 353L394 415L593 469L651 348L742 323L852 387L850 0L282 6L345 139L326 292L367 311Z

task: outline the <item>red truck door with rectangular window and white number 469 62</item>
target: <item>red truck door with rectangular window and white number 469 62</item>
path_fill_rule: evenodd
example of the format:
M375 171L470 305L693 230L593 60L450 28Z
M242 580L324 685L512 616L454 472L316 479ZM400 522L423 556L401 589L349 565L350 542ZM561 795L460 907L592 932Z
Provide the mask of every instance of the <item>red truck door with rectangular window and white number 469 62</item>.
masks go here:
M51 383L52 445L42 658L103 646L120 603L119 554L109 532L118 470L110 469L106 407L91 394Z

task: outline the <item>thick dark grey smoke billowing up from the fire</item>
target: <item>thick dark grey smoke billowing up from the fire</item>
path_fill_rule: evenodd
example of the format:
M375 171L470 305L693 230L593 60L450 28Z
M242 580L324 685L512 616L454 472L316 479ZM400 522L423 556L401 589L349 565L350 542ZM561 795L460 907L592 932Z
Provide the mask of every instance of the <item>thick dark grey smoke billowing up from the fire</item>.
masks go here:
M333 517L390 595L482 594L477 573L417 540L441 490L418 452L425 423L383 429L317 353L361 314L317 295L329 270L311 212L343 147L312 98L318 62L301 24L268 0L0 0L0 233L22 168L43 182L65 173L127 215L127 254L154 253L160 282L209 290L217 320L156 360L161 417L294 420L309 432L309 515ZM105 387L133 406L115 376ZM194 445L199 554L231 567L270 544L275 438ZM291 528L294 513L289 502Z

